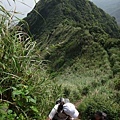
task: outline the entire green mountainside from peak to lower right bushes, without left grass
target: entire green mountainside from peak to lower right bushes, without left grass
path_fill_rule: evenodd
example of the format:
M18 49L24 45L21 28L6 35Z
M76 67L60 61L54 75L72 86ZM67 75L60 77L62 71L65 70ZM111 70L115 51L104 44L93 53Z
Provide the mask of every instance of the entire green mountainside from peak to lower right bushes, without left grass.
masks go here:
M35 9L40 14L32 11L24 20L65 96L86 97L82 119L104 110L118 120L120 30L114 18L87 0L41 0Z

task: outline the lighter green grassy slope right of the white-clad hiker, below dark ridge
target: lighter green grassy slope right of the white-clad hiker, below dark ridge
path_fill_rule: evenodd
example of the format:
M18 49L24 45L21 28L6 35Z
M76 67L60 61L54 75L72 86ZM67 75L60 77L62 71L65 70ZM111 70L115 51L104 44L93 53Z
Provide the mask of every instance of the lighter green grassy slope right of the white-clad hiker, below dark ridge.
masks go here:
M116 45L116 41L107 42ZM109 56L103 47L93 43L90 47L87 46L86 53L76 57L75 62L64 73L56 76L59 83L64 83L66 96L80 103L77 107L81 120L91 120L96 111L104 111L110 120L120 119L120 54L117 47L106 47L111 54ZM114 69L112 65L115 66ZM115 75L113 70L116 71Z

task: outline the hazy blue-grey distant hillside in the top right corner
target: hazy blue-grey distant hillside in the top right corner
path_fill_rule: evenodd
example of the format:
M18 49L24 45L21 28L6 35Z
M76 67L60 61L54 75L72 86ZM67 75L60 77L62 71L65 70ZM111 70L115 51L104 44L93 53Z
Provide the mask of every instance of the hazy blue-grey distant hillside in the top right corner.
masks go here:
M119 0L92 0L98 7L114 16L120 25L120 1Z

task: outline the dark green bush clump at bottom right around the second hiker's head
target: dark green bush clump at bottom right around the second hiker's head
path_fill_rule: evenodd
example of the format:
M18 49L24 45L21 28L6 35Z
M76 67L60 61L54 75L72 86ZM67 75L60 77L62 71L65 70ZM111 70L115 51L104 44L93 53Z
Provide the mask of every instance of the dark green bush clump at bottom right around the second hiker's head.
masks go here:
M92 120L96 111L103 111L109 120L119 120L120 106L112 101L108 95L88 96L79 105L78 110L82 120Z

